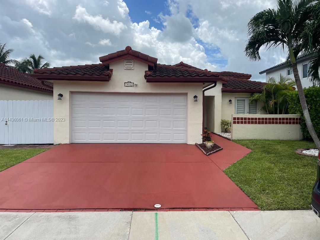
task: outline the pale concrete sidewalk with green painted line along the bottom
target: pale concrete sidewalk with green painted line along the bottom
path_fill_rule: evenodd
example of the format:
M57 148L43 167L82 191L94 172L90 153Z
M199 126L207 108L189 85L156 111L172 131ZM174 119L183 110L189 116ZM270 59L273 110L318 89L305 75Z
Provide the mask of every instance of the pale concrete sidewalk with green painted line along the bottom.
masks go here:
M312 211L0 212L0 239L320 239Z

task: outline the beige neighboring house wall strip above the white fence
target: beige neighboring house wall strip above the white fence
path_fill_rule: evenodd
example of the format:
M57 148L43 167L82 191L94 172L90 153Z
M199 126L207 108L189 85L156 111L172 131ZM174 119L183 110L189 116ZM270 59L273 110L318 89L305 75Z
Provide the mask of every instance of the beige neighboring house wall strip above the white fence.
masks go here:
M52 100L53 94L0 84L0 100Z

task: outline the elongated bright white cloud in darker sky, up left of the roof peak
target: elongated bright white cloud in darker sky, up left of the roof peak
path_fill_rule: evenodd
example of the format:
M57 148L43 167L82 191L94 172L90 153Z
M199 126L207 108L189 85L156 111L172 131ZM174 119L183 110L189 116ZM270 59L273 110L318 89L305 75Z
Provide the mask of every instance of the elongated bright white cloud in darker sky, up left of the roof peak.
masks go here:
M127 28L122 22L116 20L111 22L108 18L104 19L101 15L92 16L81 5L76 7L76 13L73 16L73 19L78 22L87 22L97 30L101 30L105 33L112 33L116 36L119 36L121 31Z

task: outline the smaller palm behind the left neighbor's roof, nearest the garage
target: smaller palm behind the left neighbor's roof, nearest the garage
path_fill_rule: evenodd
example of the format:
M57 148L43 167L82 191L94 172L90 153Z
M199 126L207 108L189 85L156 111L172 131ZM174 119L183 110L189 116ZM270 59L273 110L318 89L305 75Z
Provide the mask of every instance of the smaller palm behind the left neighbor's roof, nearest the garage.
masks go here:
M33 74L33 70L36 68L49 68L50 62L45 62L42 64L44 57L39 55L38 57L35 54L30 54L29 58L24 58L21 61L17 61L15 68L21 72Z

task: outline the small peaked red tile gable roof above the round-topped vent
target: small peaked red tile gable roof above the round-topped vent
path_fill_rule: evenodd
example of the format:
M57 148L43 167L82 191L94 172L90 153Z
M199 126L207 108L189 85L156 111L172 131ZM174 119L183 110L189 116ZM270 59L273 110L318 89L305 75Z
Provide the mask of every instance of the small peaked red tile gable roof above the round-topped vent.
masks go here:
M120 60L126 57L132 57L133 59L138 58L140 60L146 61L149 64L152 63L152 65L156 64L158 59L151 57L147 54L144 54L142 52L138 52L135 50L132 50L130 46L126 46L124 50L109 53L108 55L102 56L99 58L100 62L107 64L112 61Z

